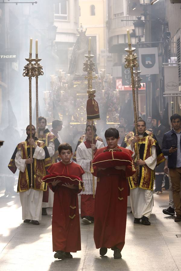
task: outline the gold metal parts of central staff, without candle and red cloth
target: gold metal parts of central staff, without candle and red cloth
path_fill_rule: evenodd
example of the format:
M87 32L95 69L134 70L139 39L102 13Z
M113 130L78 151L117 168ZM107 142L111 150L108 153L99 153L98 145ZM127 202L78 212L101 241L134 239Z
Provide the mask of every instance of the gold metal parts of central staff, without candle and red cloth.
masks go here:
M92 58L94 58L94 55L90 54L91 52L88 51L88 55L85 55L87 60L83 63L83 71L87 72L87 76L85 78L87 79L88 83L88 89L87 89L87 94L88 94L88 99L94 98L96 90L92 89L92 80L97 79L97 75L93 76L92 73L95 72L95 63L92 61ZM91 120L91 128L92 128L92 144L94 143L94 138L93 138L93 120ZM94 158L94 150L92 150L92 159ZM94 175L93 176L93 198L95 198L95 183L94 183Z

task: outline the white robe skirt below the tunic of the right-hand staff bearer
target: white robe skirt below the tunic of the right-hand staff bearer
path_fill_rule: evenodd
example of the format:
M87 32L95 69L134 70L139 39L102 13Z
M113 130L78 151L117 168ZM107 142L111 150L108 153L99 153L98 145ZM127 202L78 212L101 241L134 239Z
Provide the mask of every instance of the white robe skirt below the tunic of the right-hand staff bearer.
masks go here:
M135 218L150 218L153 208L153 191L136 187L130 189L130 203Z

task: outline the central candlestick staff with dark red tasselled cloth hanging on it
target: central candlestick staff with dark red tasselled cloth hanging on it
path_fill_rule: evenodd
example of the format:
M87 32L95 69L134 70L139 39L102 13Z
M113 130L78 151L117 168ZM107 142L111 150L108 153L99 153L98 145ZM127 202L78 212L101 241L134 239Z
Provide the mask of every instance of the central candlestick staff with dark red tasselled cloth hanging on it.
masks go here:
M95 63L92 61L92 58L94 55L91 55L91 38L89 38L89 48L88 48L88 55L85 55L87 60L84 62L83 71L87 72L87 76L85 78L87 79L88 83L88 100L87 100L87 120L91 120L91 127L92 127L92 144L94 144L94 137L93 137L93 120L99 120L99 106L97 104L97 101L94 99L96 90L92 89L92 79L97 79L97 76L93 76L92 73L95 72ZM94 158L94 151L92 150L92 159ZM90 171L92 171L93 168L91 166ZM94 176L93 176L93 198L95 197L95 184L94 184Z

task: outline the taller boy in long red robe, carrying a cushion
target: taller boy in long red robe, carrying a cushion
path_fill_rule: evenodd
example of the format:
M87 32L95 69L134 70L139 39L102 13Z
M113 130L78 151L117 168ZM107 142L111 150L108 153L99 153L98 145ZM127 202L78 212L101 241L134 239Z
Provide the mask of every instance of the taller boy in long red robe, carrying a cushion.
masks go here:
M119 148L132 156L133 152L118 146L119 132L109 128L105 132L107 147L96 151L94 157L106 149ZM94 160L93 160L94 163ZM105 255L107 248L114 251L114 259L120 259L125 244L127 216L127 180L135 170L132 166L116 166L111 168L94 168L94 176L98 177L95 210L94 210L94 241L100 248L100 255Z

